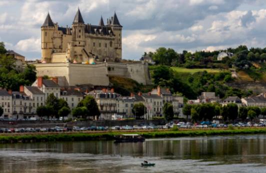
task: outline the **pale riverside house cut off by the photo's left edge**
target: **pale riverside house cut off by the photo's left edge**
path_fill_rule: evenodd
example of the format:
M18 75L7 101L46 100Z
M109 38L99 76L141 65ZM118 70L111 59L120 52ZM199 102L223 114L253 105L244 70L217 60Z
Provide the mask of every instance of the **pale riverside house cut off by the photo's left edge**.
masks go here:
M3 109L1 118L8 119L12 116L12 91L0 89L0 106Z

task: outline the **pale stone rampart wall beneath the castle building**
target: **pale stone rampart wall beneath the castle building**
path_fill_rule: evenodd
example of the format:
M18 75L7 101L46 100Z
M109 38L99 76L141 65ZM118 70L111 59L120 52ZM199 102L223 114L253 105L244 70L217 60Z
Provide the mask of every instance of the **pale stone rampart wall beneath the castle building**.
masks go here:
M142 63L100 63L95 65L44 63L34 65L36 66L37 76L59 77L58 84L60 86L80 84L108 86L108 76L130 78L143 85L150 84L147 65Z

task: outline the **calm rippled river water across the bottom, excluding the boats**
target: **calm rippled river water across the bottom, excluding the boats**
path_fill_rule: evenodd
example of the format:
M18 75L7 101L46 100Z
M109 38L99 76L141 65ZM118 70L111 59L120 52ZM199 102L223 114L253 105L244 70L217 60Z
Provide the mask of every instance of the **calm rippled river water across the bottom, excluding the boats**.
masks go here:
M266 135L1 144L0 172L266 172Z

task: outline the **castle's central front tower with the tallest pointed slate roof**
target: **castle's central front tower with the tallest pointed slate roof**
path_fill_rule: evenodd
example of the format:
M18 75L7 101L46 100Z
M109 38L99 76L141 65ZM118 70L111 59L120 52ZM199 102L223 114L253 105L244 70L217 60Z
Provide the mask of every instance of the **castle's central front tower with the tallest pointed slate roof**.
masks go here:
M78 62L83 61L82 54L76 54L75 52L83 52L85 46L85 25L80 14L79 8L76 12L72 23L72 42L70 46L70 60L76 59Z

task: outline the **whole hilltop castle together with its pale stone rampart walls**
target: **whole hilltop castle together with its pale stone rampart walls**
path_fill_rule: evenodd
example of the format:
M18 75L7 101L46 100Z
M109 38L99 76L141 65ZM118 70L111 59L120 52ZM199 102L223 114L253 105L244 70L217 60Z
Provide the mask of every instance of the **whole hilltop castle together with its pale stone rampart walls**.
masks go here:
M56 77L58 85L108 86L109 76L151 83L146 62L121 63L122 26L116 14L102 17L97 26L84 24L79 9L71 28L58 27L48 14L41 26L41 61L34 63L37 76Z

